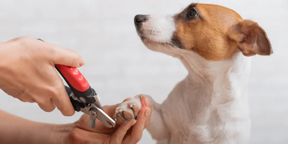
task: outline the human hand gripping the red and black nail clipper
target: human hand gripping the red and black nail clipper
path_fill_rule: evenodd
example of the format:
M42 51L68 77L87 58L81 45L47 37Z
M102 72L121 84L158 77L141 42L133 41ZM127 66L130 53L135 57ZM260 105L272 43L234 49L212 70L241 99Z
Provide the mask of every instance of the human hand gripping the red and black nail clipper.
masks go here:
M36 102L46 112L55 106L65 116L75 113L55 64L81 67L76 52L31 37L0 43L0 88L23 102Z

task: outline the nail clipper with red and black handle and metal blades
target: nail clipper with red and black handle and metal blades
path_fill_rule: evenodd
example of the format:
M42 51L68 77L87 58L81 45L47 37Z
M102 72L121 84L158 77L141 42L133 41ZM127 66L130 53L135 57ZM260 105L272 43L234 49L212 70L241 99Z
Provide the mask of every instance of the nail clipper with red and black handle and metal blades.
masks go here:
M103 111L100 104L100 97L96 94L95 90L90 87L85 77L77 68L65 65L55 65L55 68L69 86L65 86L65 89L74 110L89 115L88 125L91 128L96 127L96 119L108 128L115 127L116 122Z

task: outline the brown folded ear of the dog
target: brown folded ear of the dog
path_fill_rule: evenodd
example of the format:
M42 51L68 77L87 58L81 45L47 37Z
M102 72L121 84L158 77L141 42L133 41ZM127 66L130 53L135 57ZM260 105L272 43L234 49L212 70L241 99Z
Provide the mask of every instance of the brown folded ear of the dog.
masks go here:
M265 31L251 20L242 20L228 31L228 37L233 45L245 56L270 55L273 53Z

